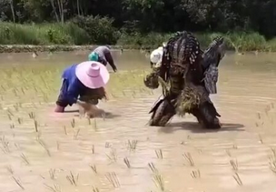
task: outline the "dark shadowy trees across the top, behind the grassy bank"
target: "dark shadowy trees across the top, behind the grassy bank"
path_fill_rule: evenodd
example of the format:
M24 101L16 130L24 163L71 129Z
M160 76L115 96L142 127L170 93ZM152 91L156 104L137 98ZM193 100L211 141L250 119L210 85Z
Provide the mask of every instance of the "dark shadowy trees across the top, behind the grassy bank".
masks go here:
M140 33L255 31L271 38L275 13L275 0L0 0L2 21L15 15L16 23L62 22L77 15L94 43L114 42L113 25Z

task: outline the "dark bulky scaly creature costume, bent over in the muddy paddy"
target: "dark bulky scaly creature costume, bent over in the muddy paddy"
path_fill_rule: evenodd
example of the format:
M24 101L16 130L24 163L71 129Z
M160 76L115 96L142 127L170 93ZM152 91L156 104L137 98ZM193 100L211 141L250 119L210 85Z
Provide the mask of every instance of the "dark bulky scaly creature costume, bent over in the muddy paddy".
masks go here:
M177 33L163 49L162 65L153 68L144 85L163 86L163 98L152 108L150 126L165 126L175 115L196 116L206 128L221 128L220 116L209 97L216 93L218 66L222 57L223 38L217 37L203 52L190 32Z

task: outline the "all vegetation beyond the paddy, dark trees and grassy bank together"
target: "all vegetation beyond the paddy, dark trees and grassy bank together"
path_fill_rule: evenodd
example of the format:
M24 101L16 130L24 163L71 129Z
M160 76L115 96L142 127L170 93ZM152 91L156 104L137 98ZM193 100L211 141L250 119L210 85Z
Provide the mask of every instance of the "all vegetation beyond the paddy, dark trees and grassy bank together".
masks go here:
M0 44L156 47L189 30L202 46L223 34L229 48L275 51L275 12L274 0L0 0Z

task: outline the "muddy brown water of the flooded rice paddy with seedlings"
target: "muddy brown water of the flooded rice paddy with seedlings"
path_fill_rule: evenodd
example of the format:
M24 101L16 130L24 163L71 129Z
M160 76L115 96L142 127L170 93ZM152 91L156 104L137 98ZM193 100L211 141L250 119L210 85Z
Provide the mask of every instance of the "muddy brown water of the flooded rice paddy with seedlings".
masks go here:
M80 118L75 106L54 114L62 70L86 56L0 55L0 191L276 190L275 54L225 56L212 96L219 131L193 116L147 126L160 90L143 86L149 62L140 52L114 52L104 119Z

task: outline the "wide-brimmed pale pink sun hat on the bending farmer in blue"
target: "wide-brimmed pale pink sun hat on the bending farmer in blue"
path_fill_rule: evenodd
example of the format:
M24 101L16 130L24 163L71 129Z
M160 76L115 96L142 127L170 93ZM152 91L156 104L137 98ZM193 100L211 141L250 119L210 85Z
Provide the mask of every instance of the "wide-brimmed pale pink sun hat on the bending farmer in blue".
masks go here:
M107 68L96 61L85 61L75 68L75 76L89 88L105 86L109 80Z

